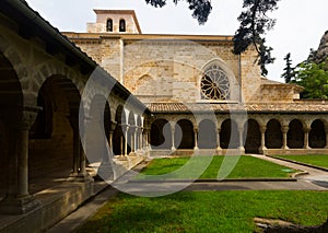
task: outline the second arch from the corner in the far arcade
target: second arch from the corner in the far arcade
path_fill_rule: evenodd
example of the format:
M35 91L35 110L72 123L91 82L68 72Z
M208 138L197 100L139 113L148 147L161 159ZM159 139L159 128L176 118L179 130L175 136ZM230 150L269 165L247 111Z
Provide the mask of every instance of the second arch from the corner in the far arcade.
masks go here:
M175 125L174 144L176 149L194 149L194 125L189 119L180 119Z

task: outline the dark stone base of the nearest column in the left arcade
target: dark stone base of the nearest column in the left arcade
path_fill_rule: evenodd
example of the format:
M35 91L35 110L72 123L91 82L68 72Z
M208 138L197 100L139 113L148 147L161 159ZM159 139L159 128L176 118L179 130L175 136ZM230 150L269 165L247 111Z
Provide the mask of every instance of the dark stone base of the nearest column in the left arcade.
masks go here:
M0 212L9 214L22 214L37 209L40 206L42 202L33 195L27 195L24 197L7 196L0 202Z

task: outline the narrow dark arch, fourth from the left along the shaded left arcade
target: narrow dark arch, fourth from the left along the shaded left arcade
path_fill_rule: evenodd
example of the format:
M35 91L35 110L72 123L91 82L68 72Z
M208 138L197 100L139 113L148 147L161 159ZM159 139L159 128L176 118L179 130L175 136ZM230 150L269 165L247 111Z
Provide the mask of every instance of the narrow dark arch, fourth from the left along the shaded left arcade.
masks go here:
M126 112L122 105L118 105L116 108L115 121L116 126L113 133L113 152L115 155L122 155L125 152L124 144L126 142L124 135L124 129L126 127Z

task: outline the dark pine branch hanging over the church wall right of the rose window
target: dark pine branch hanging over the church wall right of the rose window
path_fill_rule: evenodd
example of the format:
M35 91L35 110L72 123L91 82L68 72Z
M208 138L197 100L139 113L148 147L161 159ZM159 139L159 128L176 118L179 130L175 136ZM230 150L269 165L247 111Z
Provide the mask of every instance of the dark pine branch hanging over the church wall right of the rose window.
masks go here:
M239 28L234 36L234 53L242 54L249 45L254 45L258 53L258 65L262 75L268 74L266 65L272 63L274 58L271 56L271 47L265 45L263 35L271 30L276 20L269 18L268 12L278 9L279 0L244 0L245 9L238 16Z

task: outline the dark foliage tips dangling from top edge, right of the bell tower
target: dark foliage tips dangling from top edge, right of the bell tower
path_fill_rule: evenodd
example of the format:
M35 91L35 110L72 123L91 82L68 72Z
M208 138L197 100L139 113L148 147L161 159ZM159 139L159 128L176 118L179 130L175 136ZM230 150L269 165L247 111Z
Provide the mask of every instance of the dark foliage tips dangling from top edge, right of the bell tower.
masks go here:
M180 0L173 0L175 4ZM197 19L199 24L204 24L212 11L212 4L210 0L186 0L189 4L189 9L192 11L192 18ZM166 4L166 0L145 0L148 4L155 8L162 8Z

